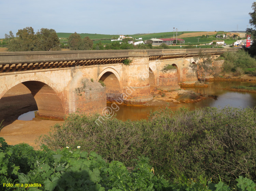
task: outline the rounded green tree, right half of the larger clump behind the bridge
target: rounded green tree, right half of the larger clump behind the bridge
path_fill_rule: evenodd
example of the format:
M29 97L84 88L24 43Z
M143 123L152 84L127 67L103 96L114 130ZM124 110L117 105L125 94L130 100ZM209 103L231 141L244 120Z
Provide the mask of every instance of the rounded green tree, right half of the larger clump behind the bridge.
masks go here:
M37 47L34 50L60 50L60 41L56 31L42 28L40 32L37 32Z

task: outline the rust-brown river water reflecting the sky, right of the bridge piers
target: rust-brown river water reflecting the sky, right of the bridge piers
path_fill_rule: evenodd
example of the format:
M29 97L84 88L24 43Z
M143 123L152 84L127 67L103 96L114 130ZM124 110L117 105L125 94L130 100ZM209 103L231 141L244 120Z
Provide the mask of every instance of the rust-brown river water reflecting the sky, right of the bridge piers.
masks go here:
M191 110L201 107L252 107L256 106L256 94L248 92L234 92L225 90L223 88L229 88L233 86L250 86L255 85L248 82L209 82L208 88L187 88L187 90L201 93L207 98L197 103L182 103L182 104L170 104L170 108L175 111L181 107L188 107ZM216 95L217 99L209 98L208 95ZM111 106L111 104L108 104ZM116 118L120 120L138 120L148 119L150 111L156 111L163 107L138 107L138 106L125 106L119 105L119 110L116 113Z

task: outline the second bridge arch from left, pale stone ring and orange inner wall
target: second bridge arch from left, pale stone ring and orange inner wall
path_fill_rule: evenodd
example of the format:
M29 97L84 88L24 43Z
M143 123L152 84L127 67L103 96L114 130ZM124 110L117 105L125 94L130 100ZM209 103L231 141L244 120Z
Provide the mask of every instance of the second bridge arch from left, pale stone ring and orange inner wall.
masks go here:
M104 69L97 78L106 86L106 97L108 101L116 101L122 99L122 83L120 76L113 68Z

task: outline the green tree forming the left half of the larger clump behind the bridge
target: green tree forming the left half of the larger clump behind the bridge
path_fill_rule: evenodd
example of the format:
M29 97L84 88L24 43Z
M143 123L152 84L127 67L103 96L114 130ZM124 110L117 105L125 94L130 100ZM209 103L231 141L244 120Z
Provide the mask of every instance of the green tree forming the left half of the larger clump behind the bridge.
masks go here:
M8 44L8 51L33 51L35 47L35 35L32 27L18 30L16 38Z

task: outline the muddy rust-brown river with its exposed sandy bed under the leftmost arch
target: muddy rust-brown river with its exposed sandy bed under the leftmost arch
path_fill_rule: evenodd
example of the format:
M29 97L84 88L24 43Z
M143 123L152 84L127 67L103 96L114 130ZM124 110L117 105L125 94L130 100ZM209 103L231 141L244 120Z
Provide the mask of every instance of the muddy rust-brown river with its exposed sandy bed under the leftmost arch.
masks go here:
M256 84L223 81L208 82L208 88L186 88L186 90L203 94L205 99L196 103L177 104L153 99L148 106L118 105L118 107L111 107L111 103L108 103L107 106L112 108L111 115L123 121L127 119L147 119L151 111L156 111L166 106L170 107L172 110L177 110L181 107L188 107L191 110L201 107L223 108L225 106L254 108L256 106L256 93L235 92L224 89L233 86L251 85ZM154 102L157 104L154 104ZM158 106L156 107L152 105ZM25 142L38 149L39 146L35 144L35 140L38 136L47 134L51 126L61 122L34 118L33 112L29 112L34 110L37 110L37 105L31 93L25 86L17 85L9 90L4 97L0 99L0 120L4 119L0 137L3 137L8 144ZM19 116L20 120L18 120Z

